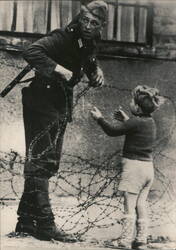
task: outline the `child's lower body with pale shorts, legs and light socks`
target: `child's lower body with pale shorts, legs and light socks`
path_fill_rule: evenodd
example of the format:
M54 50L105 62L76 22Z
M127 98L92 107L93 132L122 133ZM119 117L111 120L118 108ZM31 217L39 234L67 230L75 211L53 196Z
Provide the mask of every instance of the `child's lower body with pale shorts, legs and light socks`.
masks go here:
M148 216L147 196L154 178L153 162L138 161L127 158L122 159L122 174L119 190L124 192L124 212L127 227L126 232L122 230L121 244L130 246L134 230L132 222L136 217L136 241L146 244ZM136 216L135 216L136 213Z

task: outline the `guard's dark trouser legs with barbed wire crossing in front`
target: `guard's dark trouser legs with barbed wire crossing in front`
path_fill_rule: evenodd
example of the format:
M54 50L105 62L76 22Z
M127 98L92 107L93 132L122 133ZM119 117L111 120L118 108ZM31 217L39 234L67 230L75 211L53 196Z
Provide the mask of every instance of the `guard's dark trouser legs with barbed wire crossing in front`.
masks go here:
M26 140L24 191L17 214L20 218L53 222L49 178L59 169L67 120L54 109L31 110L23 105Z

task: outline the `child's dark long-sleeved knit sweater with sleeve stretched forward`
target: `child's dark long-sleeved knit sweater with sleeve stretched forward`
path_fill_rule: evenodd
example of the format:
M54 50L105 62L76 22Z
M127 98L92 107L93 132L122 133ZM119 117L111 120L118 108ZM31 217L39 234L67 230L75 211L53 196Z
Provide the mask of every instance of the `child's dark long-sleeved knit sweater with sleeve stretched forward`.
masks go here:
M152 117L133 117L118 126L110 125L104 118L98 124L109 136L125 135L123 157L141 161L152 161L156 140L156 125Z

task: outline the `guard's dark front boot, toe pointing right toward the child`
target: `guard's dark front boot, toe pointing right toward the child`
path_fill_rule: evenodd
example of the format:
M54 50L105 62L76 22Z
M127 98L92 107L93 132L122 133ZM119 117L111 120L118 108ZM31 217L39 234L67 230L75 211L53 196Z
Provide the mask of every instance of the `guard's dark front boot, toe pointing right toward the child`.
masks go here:
M73 234L67 234L58 229L55 223L42 223L37 225L36 237L40 240L57 240L62 242L76 242L77 238Z

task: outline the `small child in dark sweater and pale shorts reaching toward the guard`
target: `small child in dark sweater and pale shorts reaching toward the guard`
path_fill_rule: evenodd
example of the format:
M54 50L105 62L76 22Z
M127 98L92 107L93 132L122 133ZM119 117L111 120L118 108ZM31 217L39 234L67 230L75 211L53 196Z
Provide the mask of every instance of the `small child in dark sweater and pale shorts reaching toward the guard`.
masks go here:
M156 126L151 114L159 106L159 92L148 86L137 86L132 91L129 118L121 109L115 111L119 126L111 126L101 112L94 107L92 116L109 136L126 135L122 174L119 190L124 194L124 212L122 234L118 247L144 249L147 243L146 200L154 178L152 152L156 140ZM136 217L136 218L135 218ZM132 244L134 225L136 238Z

